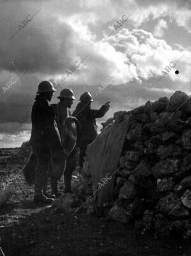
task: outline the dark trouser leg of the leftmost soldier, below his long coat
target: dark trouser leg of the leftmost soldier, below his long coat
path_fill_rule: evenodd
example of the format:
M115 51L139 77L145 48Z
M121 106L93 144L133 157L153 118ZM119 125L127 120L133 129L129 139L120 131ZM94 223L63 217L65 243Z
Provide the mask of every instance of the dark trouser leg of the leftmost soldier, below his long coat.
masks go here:
M34 181L34 194L41 195L43 193L43 184L47 181L48 165L50 161L50 149L33 149L36 155L36 170Z

